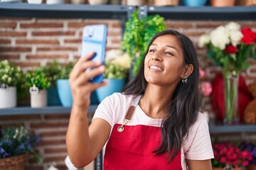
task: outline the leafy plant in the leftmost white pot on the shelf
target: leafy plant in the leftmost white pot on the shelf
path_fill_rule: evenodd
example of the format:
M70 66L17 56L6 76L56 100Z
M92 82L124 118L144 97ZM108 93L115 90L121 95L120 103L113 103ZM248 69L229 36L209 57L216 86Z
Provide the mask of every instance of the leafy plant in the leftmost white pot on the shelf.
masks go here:
M23 81L23 72L20 67L15 67L11 62L0 62L0 85L18 86Z

